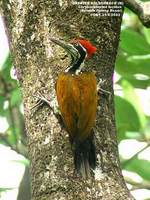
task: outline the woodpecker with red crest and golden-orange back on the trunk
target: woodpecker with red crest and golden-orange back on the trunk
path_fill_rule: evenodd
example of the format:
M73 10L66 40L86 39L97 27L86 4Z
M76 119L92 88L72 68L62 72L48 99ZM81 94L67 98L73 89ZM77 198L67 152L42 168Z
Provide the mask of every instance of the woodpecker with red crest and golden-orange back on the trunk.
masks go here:
M96 168L94 131L97 110L97 83L93 71L82 71L84 61L91 59L97 48L87 39L65 42L50 40L62 47L71 62L58 74L55 90L60 114L69 134L75 172L85 178Z

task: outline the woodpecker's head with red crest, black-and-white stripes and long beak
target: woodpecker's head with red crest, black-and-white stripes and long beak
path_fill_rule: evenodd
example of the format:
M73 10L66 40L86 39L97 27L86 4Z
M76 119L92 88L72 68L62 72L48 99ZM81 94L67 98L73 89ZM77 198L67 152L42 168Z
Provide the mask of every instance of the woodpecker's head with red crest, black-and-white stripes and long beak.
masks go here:
M70 43L66 43L56 38L50 38L52 42L61 46L70 56L71 63L66 68L65 72L76 73L81 70L81 64L85 59L90 58L95 52L96 47L90 41L85 39L75 39Z

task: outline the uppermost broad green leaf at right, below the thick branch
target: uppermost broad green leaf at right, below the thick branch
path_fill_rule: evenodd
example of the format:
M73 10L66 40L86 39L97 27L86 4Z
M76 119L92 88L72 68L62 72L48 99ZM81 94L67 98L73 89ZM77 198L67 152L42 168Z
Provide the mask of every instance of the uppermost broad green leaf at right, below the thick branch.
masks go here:
M120 48L130 55L145 55L150 53L150 45L145 38L130 29L122 30Z

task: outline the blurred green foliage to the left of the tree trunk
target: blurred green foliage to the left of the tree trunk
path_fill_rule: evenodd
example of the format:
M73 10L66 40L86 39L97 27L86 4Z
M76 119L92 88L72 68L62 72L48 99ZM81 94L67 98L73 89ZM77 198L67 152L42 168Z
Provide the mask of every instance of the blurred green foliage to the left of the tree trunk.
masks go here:
M11 77L11 69L12 60L9 54L0 69L0 120L3 117L8 123L8 129L0 133L0 143L27 157L24 120L20 110L22 97L17 80ZM18 162L26 166L29 161L25 158ZM10 189L13 188L0 188L0 193Z

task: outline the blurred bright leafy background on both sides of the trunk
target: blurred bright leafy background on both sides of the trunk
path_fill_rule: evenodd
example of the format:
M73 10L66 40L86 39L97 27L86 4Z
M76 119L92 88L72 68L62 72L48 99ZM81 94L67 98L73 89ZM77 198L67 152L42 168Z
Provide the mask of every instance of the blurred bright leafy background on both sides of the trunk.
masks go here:
M125 10L114 74L123 175L136 200L150 200L150 29ZM0 18L0 200L30 200L20 88Z

